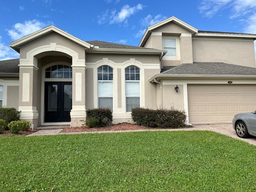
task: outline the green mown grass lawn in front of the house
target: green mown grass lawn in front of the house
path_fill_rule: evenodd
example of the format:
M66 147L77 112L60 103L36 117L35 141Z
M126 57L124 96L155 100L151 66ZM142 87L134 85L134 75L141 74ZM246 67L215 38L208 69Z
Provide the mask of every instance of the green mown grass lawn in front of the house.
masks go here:
M256 148L209 131L0 138L0 191L256 191Z

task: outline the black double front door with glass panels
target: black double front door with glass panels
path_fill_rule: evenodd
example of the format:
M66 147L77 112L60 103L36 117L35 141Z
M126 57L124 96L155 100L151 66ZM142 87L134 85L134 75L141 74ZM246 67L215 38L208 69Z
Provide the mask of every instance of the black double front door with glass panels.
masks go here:
M70 122L72 82L45 82L44 122Z

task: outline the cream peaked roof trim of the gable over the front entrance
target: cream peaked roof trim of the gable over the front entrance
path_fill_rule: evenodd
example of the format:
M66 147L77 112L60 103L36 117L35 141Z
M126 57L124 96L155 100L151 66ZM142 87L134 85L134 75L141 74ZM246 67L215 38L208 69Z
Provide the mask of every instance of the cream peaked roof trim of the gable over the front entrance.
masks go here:
M43 28L39 31L36 31L30 35L27 35L23 38L20 38L12 43L9 44L9 46L11 48L13 48L14 50L16 50L17 52L20 52L20 46L23 45L23 44L26 44L32 40L35 40L41 36L44 36L50 32L56 32L74 42L76 42L77 44L80 44L81 46L84 46L86 48L90 48L90 44L88 44L87 42L83 41L83 40L80 40L79 38L76 38L75 36L72 36L71 34L67 33L67 32L64 32L63 30L51 25L51 26L48 26L46 28Z

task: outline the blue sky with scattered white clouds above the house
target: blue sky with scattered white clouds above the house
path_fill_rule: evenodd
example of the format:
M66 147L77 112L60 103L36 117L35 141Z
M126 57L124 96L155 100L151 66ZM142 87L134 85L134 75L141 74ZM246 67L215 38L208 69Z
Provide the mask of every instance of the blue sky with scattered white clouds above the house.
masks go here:
M256 0L4 0L0 60L19 58L8 44L54 25L84 41L138 46L144 31L175 16L198 30L256 34Z

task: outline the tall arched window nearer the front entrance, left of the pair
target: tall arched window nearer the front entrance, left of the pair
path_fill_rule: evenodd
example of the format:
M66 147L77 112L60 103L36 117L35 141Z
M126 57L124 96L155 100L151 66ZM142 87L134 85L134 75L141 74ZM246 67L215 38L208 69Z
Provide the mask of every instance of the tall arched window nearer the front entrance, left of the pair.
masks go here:
M113 68L98 68L98 107L109 107L113 110Z

